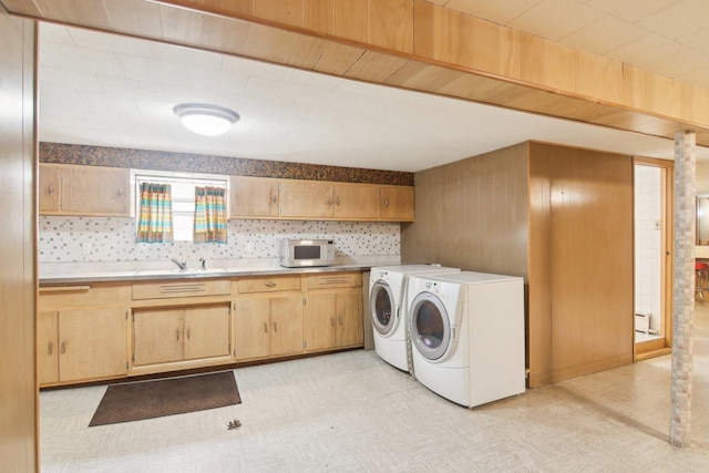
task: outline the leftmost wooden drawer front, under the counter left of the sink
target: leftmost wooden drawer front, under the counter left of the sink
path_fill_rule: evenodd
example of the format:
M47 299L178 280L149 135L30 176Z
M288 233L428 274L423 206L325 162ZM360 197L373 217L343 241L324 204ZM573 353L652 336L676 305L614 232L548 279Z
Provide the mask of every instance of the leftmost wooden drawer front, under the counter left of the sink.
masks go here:
M129 284L84 284L42 286L39 288L38 310L72 307L121 306L131 300Z

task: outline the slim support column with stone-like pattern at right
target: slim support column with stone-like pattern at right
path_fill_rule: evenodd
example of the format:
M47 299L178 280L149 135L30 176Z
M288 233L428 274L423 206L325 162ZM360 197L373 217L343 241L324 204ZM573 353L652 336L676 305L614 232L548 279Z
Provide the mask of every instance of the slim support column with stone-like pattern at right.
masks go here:
M696 135L675 134L675 284L669 441L689 446L695 316Z

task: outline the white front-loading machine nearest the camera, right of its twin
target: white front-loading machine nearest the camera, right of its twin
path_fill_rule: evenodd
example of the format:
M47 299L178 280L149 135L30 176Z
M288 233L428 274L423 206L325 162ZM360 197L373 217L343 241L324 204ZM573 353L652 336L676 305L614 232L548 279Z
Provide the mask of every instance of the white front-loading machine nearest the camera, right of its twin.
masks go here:
M412 276L407 307L413 371L423 385L467 408L524 392L522 278Z

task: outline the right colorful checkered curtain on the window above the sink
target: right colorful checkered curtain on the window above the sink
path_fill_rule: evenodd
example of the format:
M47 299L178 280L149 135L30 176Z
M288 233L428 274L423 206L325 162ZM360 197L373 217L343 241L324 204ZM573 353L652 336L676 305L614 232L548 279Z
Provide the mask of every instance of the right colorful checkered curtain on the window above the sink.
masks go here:
M226 243L226 189L195 187L194 243Z

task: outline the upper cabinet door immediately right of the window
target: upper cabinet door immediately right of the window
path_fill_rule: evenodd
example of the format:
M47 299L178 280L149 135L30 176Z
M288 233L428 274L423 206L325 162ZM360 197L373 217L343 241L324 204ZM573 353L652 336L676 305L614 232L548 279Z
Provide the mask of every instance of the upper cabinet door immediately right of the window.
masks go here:
M277 217L278 179L232 176L232 217Z

